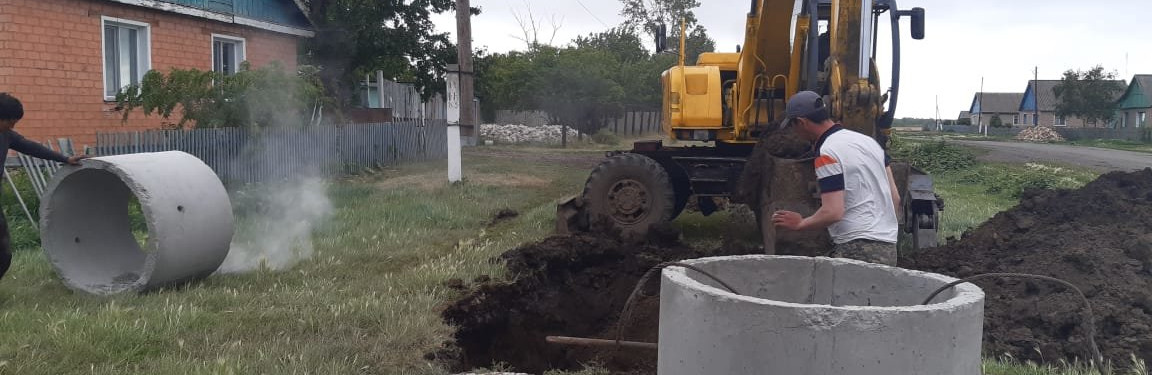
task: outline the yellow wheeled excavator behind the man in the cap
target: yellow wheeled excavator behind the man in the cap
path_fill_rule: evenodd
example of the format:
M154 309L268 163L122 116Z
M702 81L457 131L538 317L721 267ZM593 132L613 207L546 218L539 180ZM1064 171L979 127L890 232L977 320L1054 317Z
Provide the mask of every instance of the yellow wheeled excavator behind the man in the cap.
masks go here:
M694 197L705 215L715 211L714 198L745 202L757 217L780 208L811 214L819 206L811 150L787 152L779 145L787 143L778 132L787 100L802 90L820 93L833 118L887 148L900 93L900 21L905 17L912 38L923 39L924 9L901 10L895 0L751 0L742 49L704 53L695 66L685 66L681 38L680 64L660 77L662 128L674 143L696 145L644 140L630 151L608 153L583 193L558 206L556 231L606 223L642 237L653 224L674 220ZM892 86L886 93L876 66L881 21L892 25ZM667 45L664 33L657 33L658 52ZM910 235L904 238L915 247L935 246L942 202L932 178L896 162L893 170L903 198L901 227ZM755 192L740 193L748 189ZM771 221L760 222L768 253L819 242L819 234L778 234ZM820 246L809 247L812 253Z

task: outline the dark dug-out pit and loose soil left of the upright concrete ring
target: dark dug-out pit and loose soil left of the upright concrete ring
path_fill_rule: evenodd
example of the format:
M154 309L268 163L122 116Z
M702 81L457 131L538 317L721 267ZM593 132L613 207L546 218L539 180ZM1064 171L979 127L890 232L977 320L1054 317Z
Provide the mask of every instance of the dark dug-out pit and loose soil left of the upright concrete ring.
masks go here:
M546 336L614 339L619 314L645 271L666 261L720 254L680 244L680 234L670 229L653 234L642 245L605 235L551 237L500 255L510 280L457 285L464 296L442 314L457 327L455 343L430 357L457 372L506 363L518 372L540 374L599 363L615 374L654 374L654 351L545 343ZM646 296L634 305L623 339L657 342L658 280L652 280Z

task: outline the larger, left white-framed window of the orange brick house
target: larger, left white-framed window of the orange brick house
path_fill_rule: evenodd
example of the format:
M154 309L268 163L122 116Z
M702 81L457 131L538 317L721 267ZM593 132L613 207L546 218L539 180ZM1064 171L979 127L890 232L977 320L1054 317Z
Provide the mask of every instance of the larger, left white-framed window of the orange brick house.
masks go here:
M146 23L111 17L104 17L103 24L104 99L113 100L152 69L150 28Z

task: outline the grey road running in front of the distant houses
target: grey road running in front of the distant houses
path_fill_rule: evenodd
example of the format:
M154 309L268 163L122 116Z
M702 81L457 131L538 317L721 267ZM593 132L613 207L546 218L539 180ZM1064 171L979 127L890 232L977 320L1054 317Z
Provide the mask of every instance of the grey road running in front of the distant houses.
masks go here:
M1152 154L1131 151L1014 141L955 140L955 143L987 150L987 154L980 155L980 160L985 161L1054 162L1099 171L1152 167Z

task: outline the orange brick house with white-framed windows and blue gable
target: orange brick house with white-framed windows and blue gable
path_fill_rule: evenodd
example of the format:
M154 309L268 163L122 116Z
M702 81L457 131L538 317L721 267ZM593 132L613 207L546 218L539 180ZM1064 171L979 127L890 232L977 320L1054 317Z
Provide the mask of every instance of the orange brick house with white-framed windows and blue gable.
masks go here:
M0 0L0 91L24 102L22 135L78 148L97 132L160 127L156 116L123 122L113 101L150 69L295 70L312 35L293 0Z

